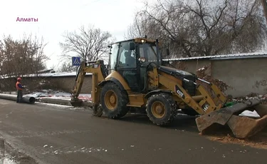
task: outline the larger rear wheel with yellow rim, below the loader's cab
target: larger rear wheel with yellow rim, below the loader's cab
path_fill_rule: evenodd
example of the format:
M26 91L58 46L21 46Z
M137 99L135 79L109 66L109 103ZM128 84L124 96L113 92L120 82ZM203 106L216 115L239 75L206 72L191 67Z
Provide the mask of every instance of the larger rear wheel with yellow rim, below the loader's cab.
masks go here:
M113 98L115 98L113 103L110 101L110 98L108 100L108 97L112 96L110 94L113 94ZM103 113L105 113L108 118L121 118L129 111L129 107L127 106L128 96L126 91L122 91L117 84L112 82L105 83L103 86L100 102Z

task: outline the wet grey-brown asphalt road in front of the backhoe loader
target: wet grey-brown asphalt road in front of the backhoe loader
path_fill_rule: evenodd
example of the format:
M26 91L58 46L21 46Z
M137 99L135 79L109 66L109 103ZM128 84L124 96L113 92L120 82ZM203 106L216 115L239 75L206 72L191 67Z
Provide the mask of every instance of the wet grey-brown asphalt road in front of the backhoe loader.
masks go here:
M28 155L19 158L24 163L266 163L267 150L198 135L194 118L174 124L161 128L146 116L114 121L70 107L0 100L0 134L13 151Z

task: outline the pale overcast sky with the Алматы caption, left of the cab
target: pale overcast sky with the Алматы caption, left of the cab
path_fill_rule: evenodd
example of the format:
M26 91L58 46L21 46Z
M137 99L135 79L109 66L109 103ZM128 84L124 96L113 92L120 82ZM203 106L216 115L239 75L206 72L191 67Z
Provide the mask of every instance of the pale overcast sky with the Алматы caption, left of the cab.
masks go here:
M23 34L43 36L51 58L48 68L58 66L61 54L59 42L64 31L77 30L81 25L94 24L110 31L118 40L124 39L127 26L132 24L140 0L0 0L0 37L11 35L21 39ZM38 18L38 22L16 21L19 18Z

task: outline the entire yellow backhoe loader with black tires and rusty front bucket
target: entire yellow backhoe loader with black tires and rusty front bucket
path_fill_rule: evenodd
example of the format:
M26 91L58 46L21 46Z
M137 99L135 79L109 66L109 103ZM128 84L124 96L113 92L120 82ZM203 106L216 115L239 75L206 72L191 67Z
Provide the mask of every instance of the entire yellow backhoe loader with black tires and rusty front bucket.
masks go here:
M229 125L236 138L248 138L267 125L267 110L260 101L251 100L227 106L226 96L217 86L192 73L162 66L160 43L145 38L112 43L108 68L102 60L82 61L70 91L73 106L78 99L85 73L92 73L92 107L94 116L117 119L130 108L139 108L156 125L172 122L179 109L197 116L200 133L216 124ZM197 81L208 84L211 92ZM256 110L261 118L239 116Z

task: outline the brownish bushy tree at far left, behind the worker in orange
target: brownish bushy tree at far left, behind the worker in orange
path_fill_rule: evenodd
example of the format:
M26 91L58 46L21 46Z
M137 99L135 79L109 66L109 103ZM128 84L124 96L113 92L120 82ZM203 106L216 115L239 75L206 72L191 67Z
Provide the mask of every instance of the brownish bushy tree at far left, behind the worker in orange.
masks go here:
M38 77L38 72L46 68L44 63L48 57L43 53L45 46L43 39L38 40L36 36L32 38L24 34L21 40L4 36L0 41L0 76L6 79L1 79L4 89L14 89L18 76L33 74ZM36 85L33 81L28 81L28 84L32 87Z

